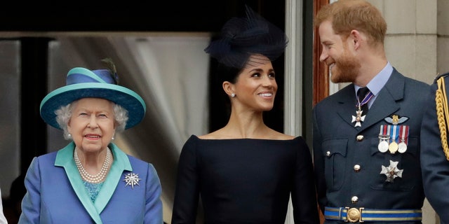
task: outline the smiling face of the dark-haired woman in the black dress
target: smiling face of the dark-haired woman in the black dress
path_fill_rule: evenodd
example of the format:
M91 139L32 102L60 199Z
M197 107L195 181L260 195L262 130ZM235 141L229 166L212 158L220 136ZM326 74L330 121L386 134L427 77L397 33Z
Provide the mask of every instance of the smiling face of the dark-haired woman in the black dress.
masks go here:
M272 62L263 55L252 55L234 84L236 102L254 111L273 108L278 85Z

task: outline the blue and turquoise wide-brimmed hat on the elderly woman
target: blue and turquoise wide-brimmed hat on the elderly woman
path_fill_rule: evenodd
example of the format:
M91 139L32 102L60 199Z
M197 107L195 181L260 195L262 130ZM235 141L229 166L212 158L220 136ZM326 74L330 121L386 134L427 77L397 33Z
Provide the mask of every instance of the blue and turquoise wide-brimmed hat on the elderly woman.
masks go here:
M41 117L58 129L55 111L77 99L102 98L119 104L128 111L125 129L140 123L145 116L147 106L139 94L121 85L116 85L116 74L109 69L89 70L81 67L67 73L66 85L48 93L41 102Z

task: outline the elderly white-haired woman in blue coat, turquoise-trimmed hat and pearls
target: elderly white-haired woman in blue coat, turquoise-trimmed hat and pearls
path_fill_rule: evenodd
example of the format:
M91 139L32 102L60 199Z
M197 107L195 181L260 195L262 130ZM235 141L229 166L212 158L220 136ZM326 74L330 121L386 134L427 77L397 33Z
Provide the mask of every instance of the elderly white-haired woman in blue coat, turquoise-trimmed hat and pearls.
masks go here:
M41 117L72 140L32 160L19 223L163 223L154 166L126 155L114 135L138 125L143 99L117 85L115 67L74 68L41 102Z

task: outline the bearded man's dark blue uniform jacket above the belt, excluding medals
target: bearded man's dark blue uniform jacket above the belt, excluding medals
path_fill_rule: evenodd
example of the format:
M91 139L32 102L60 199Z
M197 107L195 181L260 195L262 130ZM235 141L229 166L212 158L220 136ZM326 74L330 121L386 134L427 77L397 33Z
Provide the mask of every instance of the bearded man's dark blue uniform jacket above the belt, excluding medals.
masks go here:
M424 202L420 167L420 127L429 85L393 69L377 94L361 127L354 127L354 85L323 99L314 107L313 150L319 206L366 209L421 209ZM393 118L408 126L404 153L382 153L381 127ZM404 121L405 120L405 121ZM381 126L384 125L384 126ZM382 166L398 162L402 177L387 181Z

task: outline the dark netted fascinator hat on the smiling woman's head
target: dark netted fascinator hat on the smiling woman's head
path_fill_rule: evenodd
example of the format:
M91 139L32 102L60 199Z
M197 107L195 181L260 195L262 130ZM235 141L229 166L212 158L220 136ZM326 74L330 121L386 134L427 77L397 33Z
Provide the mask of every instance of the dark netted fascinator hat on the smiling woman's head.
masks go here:
M284 52L286 34L246 6L246 18L232 18L222 27L220 38L204 51L221 64L241 69L250 55L261 54L270 61ZM250 63L250 62L249 62Z

